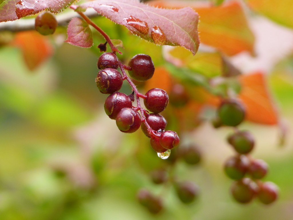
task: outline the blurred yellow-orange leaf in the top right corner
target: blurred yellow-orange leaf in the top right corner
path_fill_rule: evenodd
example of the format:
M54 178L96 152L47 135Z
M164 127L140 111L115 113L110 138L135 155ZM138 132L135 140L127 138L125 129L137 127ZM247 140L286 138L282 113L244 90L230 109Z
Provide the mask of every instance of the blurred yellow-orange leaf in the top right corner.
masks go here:
M292 0L248 0L247 2L252 10L279 24L293 28Z

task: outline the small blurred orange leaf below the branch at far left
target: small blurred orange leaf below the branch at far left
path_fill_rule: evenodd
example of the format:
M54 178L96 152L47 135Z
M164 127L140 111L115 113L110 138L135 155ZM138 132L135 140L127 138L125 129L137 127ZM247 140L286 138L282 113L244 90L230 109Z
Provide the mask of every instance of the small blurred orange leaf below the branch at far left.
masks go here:
M26 65L30 70L37 68L53 53L48 39L36 31L18 32L12 45L21 49Z

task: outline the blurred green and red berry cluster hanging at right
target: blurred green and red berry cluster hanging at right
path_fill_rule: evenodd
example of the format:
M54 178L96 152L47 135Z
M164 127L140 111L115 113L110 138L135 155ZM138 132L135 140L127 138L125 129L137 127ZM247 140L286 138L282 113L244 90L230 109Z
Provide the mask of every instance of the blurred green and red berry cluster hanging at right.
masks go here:
M217 126L238 126L245 117L245 109L235 100L225 100L219 106ZM214 124L214 125L215 125ZM251 202L258 197L263 204L270 204L278 197L278 187L272 182L262 182L268 172L265 161L251 158L248 155L254 147L254 138L248 131L239 131L231 134L228 143L232 145L237 155L229 158L224 170L226 175L235 180L231 187L231 193L240 203ZM250 178L245 177L249 175Z

